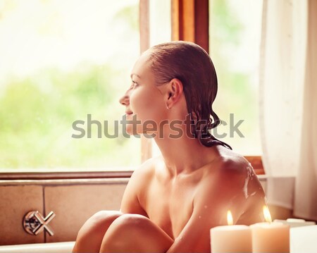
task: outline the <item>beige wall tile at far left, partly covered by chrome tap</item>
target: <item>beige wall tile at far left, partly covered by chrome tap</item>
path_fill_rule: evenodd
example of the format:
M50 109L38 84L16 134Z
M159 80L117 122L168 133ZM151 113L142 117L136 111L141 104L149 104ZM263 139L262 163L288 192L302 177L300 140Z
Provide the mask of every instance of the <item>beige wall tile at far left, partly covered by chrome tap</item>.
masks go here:
M23 229L27 211L43 211L40 185L0 186L0 245L44 242L44 234L30 235Z

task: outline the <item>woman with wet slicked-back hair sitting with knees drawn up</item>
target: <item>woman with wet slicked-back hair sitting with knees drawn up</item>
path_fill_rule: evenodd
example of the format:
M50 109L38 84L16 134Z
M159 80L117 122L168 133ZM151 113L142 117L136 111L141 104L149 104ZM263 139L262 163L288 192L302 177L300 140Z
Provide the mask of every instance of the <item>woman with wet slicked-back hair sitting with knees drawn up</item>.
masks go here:
M236 224L263 221L265 195L250 163L208 131L220 121L206 51L159 44L142 54L131 79L120 99L127 132L152 135L162 155L133 173L120 211L89 218L73 252L210 252L209 230L227 224L228 210Z

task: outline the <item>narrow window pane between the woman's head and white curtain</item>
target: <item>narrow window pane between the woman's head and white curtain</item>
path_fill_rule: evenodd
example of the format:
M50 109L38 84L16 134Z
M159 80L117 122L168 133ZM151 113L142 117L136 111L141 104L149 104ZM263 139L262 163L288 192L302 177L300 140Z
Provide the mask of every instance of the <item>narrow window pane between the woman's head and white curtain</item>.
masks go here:
M209 54L218 75L214 110L220 138L244 156L259 156L259 49L262 0L209 1ZM232 126L243 121L233 132ZM230 136L231 134L231 136ZM244 137L242 137L242 135Z

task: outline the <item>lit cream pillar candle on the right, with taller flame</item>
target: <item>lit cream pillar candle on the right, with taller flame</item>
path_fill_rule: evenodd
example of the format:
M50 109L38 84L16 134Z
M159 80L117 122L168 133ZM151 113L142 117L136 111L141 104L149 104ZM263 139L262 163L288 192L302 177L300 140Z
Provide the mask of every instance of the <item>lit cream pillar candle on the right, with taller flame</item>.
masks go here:
M267 222L251 225L252 248L254 253L290 252L290 226L274 222L267 206L263 206Z

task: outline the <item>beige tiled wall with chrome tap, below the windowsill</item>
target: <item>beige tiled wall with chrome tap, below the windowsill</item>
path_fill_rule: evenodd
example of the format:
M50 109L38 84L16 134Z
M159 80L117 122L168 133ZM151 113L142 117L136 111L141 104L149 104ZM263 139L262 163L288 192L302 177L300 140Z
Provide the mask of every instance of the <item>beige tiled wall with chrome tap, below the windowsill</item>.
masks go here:
M73 241L87 218L101 210L119 210L126 179L4 180L0 182L0 245ZM47 232L30 235L23 229L28 211L43 216L54 211Z

